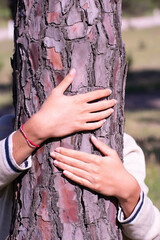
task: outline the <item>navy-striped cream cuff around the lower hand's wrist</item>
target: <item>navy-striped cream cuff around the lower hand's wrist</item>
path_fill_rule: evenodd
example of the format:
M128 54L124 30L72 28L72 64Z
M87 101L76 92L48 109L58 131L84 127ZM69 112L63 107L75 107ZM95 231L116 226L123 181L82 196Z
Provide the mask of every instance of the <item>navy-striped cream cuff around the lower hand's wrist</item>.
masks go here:
M117 217L118 221L121 224L129 224L129 223L133 222L136 219L136 217L138 216L139 212L141 211L143 204L144 204L144 192L141 192L140 200L137 203L134 211L128 218L124 219L124 213L123 213L121 207L119 207L118 217Z

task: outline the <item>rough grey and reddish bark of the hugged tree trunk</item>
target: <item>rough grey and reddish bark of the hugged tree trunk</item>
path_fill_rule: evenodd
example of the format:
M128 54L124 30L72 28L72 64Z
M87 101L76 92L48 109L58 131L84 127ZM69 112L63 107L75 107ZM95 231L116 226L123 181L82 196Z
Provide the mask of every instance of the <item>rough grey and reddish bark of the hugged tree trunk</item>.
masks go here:
M21 0L15 19L14 100L16 128L34 114L74 67L66 94L111 88L115 112L94 132L122 156L126 59L121 38L120 0ZM121 239L116 200L63 178L53 167L56 146L95 152L90 133L48 141L33 155L33 167L15 195L11 239Z

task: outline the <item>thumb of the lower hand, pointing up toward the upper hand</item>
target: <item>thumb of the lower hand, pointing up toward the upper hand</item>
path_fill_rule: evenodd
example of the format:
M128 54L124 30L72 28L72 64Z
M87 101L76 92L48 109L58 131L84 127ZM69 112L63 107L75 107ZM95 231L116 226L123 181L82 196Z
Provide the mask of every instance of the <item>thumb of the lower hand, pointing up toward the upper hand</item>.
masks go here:
M105 156L111 156L113 152L115 152L112 148L107 146L105 143L102 141L98 140L95 136L91 136L91 141L94 144L94 146Z

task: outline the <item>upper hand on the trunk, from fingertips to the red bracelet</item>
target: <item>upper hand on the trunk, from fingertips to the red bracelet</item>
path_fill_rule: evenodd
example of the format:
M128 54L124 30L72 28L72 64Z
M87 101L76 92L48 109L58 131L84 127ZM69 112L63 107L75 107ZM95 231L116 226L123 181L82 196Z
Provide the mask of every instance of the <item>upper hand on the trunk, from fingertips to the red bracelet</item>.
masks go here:
M65 90L74 80L76 71L72 69L64 80L52 90L48 99L29 122L32 125L33 142L40 144L51 137L62 137L74 132L100 128L104 119L113 112L116 100L95 100L105 98L111 90L103 89L93 92L66 96ZM91 103L92 102L92 103ZM30 129L31 129L30 128ZM24 125L25 132L27 125ZM27 134L28 135L28 134Z

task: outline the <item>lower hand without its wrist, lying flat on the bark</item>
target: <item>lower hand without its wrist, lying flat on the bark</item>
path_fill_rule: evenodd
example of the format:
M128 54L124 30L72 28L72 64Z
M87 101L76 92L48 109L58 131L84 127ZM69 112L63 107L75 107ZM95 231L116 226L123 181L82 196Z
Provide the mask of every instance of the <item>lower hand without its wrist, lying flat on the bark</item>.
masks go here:
M116 151L94 136L91 141L104 157L59 147L51 153L54 164L72 181L103 195L117 197L126 172L124 166Z

